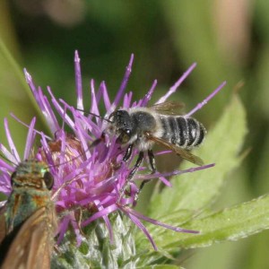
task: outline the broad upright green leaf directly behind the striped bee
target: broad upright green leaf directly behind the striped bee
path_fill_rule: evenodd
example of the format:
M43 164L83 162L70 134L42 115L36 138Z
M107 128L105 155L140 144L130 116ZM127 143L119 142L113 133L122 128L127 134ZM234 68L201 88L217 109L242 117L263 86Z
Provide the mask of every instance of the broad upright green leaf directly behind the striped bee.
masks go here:
M220 195L221 186L231 169L240 163L239 150L247 133L246 113L237 95L233 95L216 126L195 155L215 167L174 177L172 187L152 196L150 215L159 218L178 210L199 212ZM180 169L187 169L185 162ZM172 223L173 224L173 223Z

